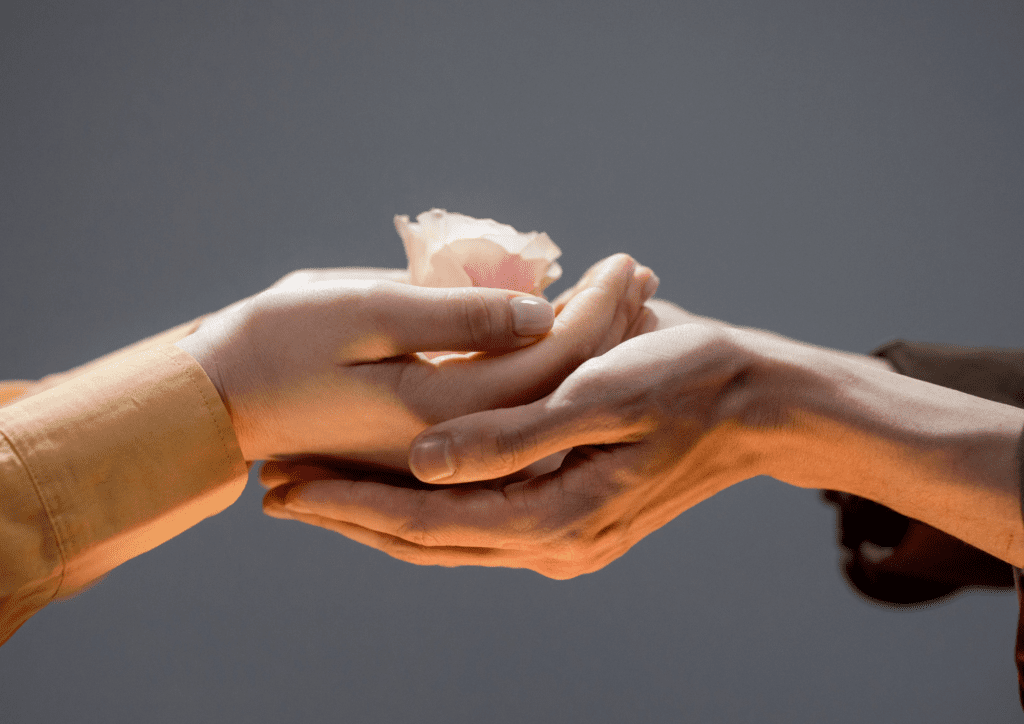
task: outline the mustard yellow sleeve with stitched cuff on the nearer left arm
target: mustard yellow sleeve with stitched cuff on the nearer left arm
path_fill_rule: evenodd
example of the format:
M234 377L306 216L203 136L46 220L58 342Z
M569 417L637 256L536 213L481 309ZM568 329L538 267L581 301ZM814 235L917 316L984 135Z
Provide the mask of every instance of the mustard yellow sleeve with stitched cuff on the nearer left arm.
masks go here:
M249 466L188 323L38 383L0 408L0 643L241 495ZM17 393L19 391L19 393Z

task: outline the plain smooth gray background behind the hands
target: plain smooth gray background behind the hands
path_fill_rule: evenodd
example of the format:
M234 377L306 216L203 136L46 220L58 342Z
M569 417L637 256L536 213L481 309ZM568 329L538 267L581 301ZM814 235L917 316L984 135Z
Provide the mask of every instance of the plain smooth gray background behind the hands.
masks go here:
M854 351L1021 346L1020 2L5 2L0 378L306 266L395 213L545 230L565 283ZM1012 594L857 598L759 478L568 582L420 568L261 489L0 649L4 721L1004 722Z

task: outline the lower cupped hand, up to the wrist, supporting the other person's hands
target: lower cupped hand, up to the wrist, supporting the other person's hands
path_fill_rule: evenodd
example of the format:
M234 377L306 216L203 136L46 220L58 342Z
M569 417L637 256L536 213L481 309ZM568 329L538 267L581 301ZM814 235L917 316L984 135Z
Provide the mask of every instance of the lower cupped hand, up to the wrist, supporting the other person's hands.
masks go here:
M645 334L585 361L543 399L425 431L411 454L420 480L268 463L264 510L413 563L590 572L761 472L760 440L738 422L748 359L725 325ZM567 448L558 470L518 479Z

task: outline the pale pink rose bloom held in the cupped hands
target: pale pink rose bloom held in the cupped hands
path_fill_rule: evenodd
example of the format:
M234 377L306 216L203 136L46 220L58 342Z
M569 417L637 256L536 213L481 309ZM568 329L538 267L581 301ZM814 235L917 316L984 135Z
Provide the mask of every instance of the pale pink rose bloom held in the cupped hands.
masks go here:
M410 282L421 287L492 287L538 296L562 275L561 250L547 233L522 233L494 219L431 209L410 223L395 216Z

